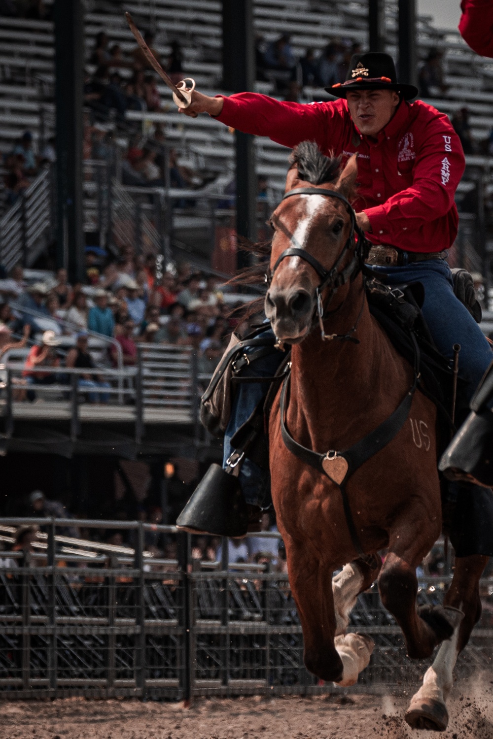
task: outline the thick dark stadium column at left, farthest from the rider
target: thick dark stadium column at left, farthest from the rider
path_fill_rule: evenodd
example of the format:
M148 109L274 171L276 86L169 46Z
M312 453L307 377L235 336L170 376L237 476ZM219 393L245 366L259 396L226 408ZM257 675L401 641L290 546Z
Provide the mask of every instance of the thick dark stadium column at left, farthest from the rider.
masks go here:
M57 267L71 282L84 280L82 138L84 85L83 0L55 0Z

